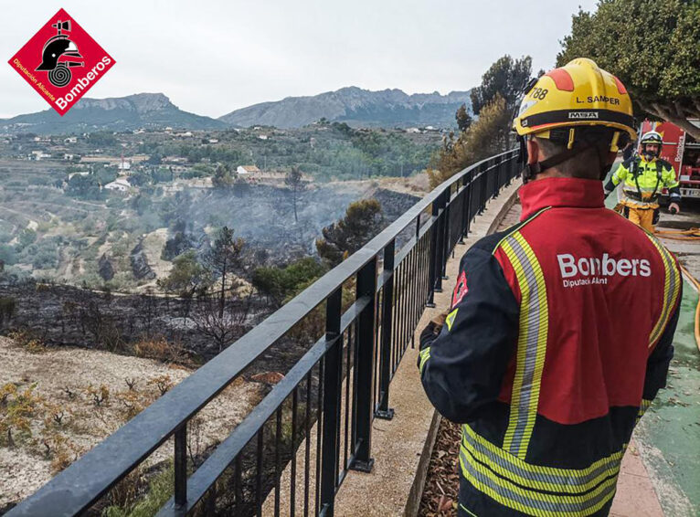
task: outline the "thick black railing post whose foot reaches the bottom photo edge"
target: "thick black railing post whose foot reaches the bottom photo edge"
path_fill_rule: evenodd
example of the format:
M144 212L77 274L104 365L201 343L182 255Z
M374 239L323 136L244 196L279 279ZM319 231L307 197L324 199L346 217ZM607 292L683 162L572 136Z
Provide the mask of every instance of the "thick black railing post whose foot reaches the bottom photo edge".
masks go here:
M340 316L343 288L334 290L325 305L325 353L323 371L323 445L321 453L321 509L333 516L335 483L338 479L339 410L343 372L343 340L340 338Z

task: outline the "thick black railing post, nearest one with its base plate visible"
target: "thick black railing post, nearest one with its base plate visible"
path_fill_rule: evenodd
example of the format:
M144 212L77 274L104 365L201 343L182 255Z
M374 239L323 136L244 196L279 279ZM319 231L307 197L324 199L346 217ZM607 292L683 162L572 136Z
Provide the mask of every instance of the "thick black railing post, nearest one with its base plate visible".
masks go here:
M375 365L375 322L377 311L377 256L373 257L357 272L357 299L369 297L365 309L357 320L357 414L356 414L356 454L352 469L362 472L372 471L375 460L372 454L372 375Z

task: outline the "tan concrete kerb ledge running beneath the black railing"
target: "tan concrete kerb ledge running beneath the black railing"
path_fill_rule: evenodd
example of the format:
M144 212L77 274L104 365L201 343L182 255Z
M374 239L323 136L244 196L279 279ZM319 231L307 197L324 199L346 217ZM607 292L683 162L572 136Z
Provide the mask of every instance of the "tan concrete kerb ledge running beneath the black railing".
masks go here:
M481 216L472 221L472 231L464 245L458 245L448 260L445 289L435 293L435 308L427 309L420 318L415 338L430 320L446 312L451 303L451 281L457 278L461 255L479 238L493 233L510 208L514 205L518 179L504 188L502 193L491 200ZM355 470L348 472L343 485L335 496L334 515L406 515L418 513L420 499L425 485L430 455L440 426L440 415L430 404L420 384L416 367L418 348L408 348L398 370L391 381L389 406L395 409L392 420L376 418L372 425L372 456L375 459L371 473ZM316 426L311 432L315 443ZM315 463L315 447L312 447L310 465ZM300 448L302 450L302 448ZM301 468L300 468L301 467ZM297 466L297 486L303 483L303 467ZM291 468L288 465L281 477L281 487L289 487ZM301 485L302 486L302 485ZM310 487L313 491L312 487ZM290 499L287 491L281 491L281 515L290 515ZM315 499L311 494L311 500ZM302 513L302 505L297 496L295 513ZM313 507L313 505L312 505ZM263 504L263 514L274 511L274 494Z

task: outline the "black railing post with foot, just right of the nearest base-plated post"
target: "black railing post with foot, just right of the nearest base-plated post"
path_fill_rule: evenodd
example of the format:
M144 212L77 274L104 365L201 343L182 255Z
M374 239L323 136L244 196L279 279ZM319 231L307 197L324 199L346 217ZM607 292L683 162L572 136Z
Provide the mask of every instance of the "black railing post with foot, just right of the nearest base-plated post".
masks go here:
M394 254L396 239L384 248L384 295L382 296L382 343L379 351L379 407L377 418L391 420L394 409L389 407L389 381L391 381L391 339L394 303Z

